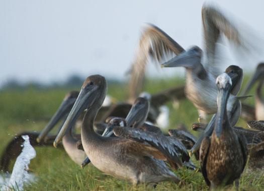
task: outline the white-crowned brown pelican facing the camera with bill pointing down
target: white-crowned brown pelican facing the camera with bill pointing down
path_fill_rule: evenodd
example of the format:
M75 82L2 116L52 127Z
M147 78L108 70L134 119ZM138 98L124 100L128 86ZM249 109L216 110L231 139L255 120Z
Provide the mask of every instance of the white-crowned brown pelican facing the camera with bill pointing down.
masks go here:
M233 181L238 188L238 180L246 164L246 140L235 133L227 116L227 100L232 87L230 77L223 73L217 77L216 83L218 87L216 124L212 136L206 136L201 144L201 169L210 188L228 185Z

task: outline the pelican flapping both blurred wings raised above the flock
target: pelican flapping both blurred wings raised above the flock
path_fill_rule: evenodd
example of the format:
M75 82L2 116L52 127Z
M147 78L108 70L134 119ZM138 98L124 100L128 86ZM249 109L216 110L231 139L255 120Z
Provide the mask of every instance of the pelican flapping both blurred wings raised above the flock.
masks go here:
M199 47L196 46L185 51L162 30L149 25L139 42L132 73L137 78L134 77L135 80L132 83L141 83L136 79L143 76L149 57L161 63L170 53L178 55L163 63L162 66L185 67L187 70L185 88L187 98L194 103L200 113L211 114L217 110L217 89L214 82L220 74L215 63L215 49L219 36L224 34L237 45L243 44L238 30L217 9L204 5L202 18L206 44L205 57L207 59L204 65L201 64L202 50ZM234 118L235 120L237 119Z

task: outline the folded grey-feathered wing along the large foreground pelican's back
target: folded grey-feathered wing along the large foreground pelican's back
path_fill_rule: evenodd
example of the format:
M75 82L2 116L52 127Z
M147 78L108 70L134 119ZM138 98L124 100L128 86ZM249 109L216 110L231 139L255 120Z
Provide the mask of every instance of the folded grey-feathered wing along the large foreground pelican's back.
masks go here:
M166 157L167 160L173 163L176 163L179 166L183 165L182 160L180 157L182 157L182 154L185 153L185 155L188 155L188 152L184 145L180 141L171 140L170 137L157 134L153 132L145 132L139 129L133 129L133 128L123 128L123 127L115 127L114 133L118 137L124 137L140 142L145 142L154 148L160 150ZM190 157L188 158L188 160Z

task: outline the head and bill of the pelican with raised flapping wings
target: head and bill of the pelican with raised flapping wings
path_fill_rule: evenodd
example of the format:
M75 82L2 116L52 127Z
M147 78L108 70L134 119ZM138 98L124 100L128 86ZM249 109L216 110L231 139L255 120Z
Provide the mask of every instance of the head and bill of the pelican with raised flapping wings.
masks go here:
M202 49L198 46L193 46L186 52L181 53L178 56L170 59L169 61L161 64L162 67L185 67L185 68L195 68L197 65L201 64Z

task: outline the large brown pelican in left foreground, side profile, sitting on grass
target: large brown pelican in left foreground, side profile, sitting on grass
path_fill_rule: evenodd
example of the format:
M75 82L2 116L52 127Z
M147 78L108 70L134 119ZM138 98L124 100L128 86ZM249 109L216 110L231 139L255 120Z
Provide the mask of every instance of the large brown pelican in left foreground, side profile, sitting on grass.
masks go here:
M80 113L87 109L81 127L83 149L95 167L118 178L127 179L134 184L159 182L180 179L170 171L162 160L179 160L171 144L163 145L155 137L149 142L163 146L166 154L142 141L120 137L102 137L94 131L94 120L106 96L107 84L104 77L93 75L88 77L81 87L76 102L70 111L63 127L54 141L56 147L66 129L72 126ZM128 129L128 128L123 128ZM132 128L131 128L132 129ZM139 134L140 135L140 134Z

